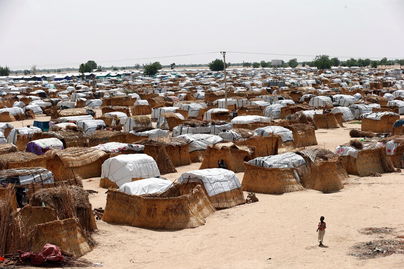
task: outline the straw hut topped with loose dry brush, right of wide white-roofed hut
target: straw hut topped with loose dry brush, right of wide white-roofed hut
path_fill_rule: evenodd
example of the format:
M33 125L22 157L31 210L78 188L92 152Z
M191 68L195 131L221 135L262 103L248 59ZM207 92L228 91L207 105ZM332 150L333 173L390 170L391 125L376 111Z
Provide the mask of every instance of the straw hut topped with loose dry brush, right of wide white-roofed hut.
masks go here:
M333 192L344 188L341 180L349 175L338 154L321 148L309 148L296 153L301 155L309 166L309 175L302 177L305 188L320 192Z

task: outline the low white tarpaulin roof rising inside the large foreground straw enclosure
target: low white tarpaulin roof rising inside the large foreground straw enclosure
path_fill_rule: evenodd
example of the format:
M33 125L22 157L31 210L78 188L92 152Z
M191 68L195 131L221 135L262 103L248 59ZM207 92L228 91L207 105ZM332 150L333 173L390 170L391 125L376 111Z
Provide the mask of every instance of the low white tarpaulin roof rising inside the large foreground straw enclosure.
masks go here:
M151 177L125 183L118 190L127 194L142 195L164 192L171 186L173 183L167 179Z

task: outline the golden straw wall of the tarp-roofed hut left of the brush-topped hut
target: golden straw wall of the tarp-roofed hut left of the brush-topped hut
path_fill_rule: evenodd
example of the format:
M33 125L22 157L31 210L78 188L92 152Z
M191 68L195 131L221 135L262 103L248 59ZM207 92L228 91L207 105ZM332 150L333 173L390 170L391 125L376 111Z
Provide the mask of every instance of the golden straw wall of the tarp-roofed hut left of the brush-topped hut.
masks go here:
M243 191L280 194L304 190L292 168L267 168L244 162Z

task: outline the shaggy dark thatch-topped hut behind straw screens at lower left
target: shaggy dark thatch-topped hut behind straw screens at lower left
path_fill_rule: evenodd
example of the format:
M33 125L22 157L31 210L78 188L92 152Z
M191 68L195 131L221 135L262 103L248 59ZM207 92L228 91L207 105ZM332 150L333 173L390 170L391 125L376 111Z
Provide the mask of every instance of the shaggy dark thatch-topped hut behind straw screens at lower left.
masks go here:
M66 215L66 207L69 206L68 200L72 200L74 203L72 207L81 227L85 231L96 230L97 225L92 206L88 200L88 192L79 186L59 186L38 190L30 196L29 204L32 206L45 204L55 210L58 219L67 219L69 218L69 215Z

